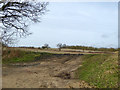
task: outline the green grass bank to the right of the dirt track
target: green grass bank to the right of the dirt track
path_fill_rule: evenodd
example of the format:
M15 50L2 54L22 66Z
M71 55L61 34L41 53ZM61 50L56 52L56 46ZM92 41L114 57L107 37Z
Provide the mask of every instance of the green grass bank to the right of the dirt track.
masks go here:
M76 76L97 88L118 87L118 55L89 54L82 57L82 66Z

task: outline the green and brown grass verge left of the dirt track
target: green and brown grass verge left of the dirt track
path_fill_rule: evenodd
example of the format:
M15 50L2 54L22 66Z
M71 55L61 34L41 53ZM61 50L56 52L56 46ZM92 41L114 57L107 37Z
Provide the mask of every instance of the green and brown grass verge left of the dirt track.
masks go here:
M41 53L41 52L30 52L30 51L21 51L21 50L5 50L3 51L3 64L10 63L23 63L23 62L32 62L41 60L51 56L50 53Z

